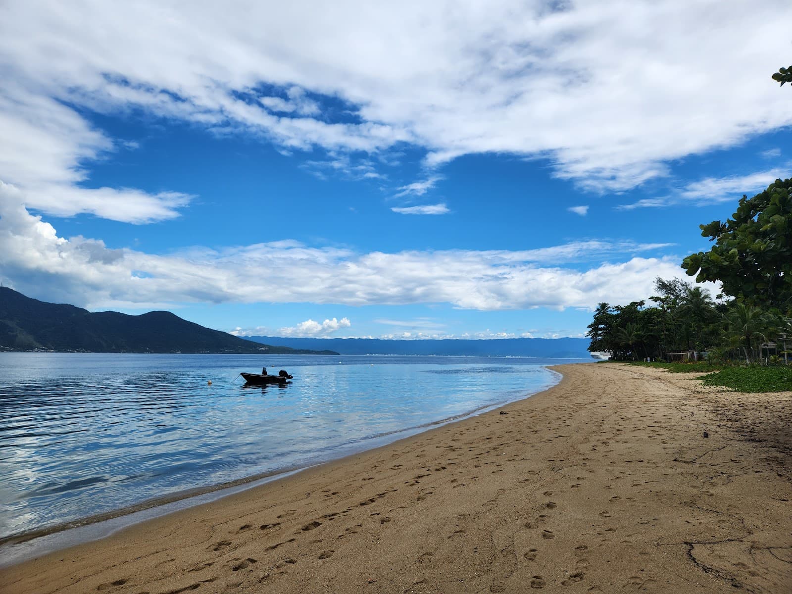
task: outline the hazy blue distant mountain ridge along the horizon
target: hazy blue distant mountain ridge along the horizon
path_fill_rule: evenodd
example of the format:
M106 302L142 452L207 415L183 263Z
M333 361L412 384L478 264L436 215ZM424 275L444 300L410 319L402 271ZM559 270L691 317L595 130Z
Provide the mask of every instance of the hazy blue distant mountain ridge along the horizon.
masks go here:
M293 348L332 348L341 355L530 356L591 359L588 338L496 338L394 341L383 338L249 336L249 341Z

